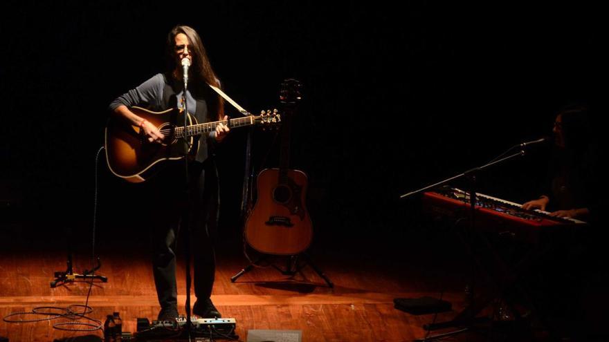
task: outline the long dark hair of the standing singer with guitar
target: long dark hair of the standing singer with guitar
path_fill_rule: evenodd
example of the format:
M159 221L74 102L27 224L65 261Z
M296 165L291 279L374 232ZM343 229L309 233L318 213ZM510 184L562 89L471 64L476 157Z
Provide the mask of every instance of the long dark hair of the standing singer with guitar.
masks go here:
M176 57L175 57L175 38L176 35L183 33L188 37L188 50L192 55L192 78L195 82L201 83L205 82L207 84L211 84L212 86L216 86L220 88L219 79L216 77L214 70L210 64L210 61L207 57L207 53L205 50L205 46L203 46L203 42L201 41L201 37L194 28L185 25L178 25L172 28L172 30L167 35L167 44L166 44L166 56L167 56L167 72L173 73L176 70ZM202 86L202 84L199 84ZM217 112L218 120L224 115L224 99L217 95L215 92L213 98L215 99L215 103L212 103L211 108L213 108Z

